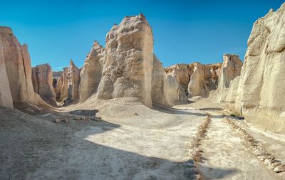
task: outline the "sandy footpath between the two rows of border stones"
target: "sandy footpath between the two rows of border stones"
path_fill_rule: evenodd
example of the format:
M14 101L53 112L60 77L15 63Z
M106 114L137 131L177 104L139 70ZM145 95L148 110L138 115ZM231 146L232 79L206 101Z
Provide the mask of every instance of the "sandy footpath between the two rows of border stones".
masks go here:
M200 142L203 152L199 171L207 179L279 179L249 151L223 117L213 113L210 117Z

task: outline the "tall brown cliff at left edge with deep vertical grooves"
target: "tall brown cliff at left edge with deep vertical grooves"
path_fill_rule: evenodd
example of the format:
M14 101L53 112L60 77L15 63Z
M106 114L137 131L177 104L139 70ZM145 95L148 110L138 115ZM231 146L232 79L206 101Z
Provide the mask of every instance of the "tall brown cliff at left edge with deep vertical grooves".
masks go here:
M31 58L28 54L28 46L26 46L26 44L21 46L17 38L12 33L11 28L0 26L0 37L1 74L5 74L3 70L4 64L6 67L6 76L4 75L1 79L4 84L7 85L7 83L5 83L5 77L8 78L14 105L20 106L23 105L23 103L44 103L43 100L41 100L41 97L33 92L33 84L31 80ZM1 87L1 89L4 89L3 92L5 92L5 97L1 95L6 100L4 103L11 107L11 98L8 92L8 87ZM3 99L3 97L1 97L1 99Z

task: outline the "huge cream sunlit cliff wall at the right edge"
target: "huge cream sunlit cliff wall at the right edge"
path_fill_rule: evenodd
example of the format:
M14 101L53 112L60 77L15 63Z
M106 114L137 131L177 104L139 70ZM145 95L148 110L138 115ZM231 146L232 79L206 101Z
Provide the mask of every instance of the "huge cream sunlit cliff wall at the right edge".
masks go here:
M259 18L247 41L236 108L249 122L285 133L285 4Z

